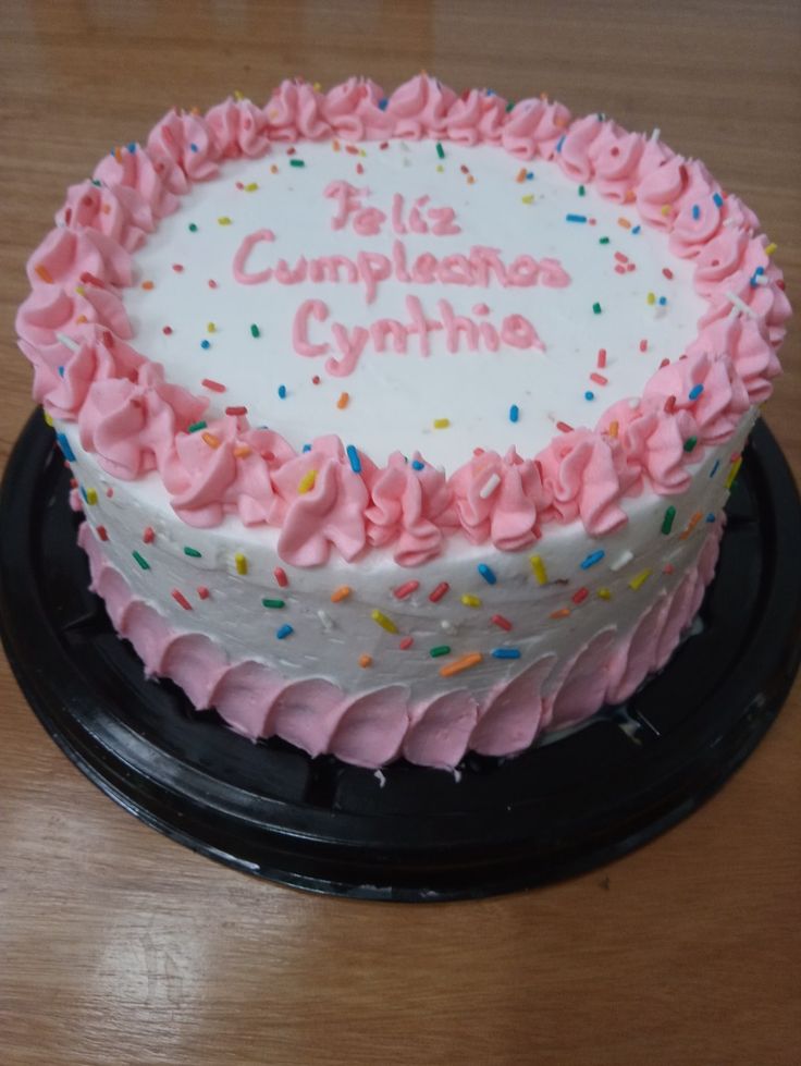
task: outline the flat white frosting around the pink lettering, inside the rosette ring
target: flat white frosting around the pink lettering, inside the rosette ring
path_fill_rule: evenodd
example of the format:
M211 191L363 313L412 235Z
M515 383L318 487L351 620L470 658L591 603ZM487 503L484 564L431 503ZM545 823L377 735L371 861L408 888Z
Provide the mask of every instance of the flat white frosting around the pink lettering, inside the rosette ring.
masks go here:
M352 155L344 146L337 152L326 142L304 144L293 157L276 150L258 161L226 162L219 179L193 185L178 210L135 255L137 284L124 291L124 302L136 346L164 365L169 380L193 392L204 391L205 378L224 384L224 394L210 393L211 416L227 405L246 405L251 425L269 426L298 449L334 432L378 463L395 450L407 455L419 450L451 471L477 446L503 452L514 444L528 456L549 443L557 421L594 426L613 402L640 395L662 359L674 360L694 336L704 304L692 289L690 261L668 255L663 233L645 228L634 233L638 219L632 208L603 200L590 185L579 195L577 184L555 163L527 164L533 179L517 182L519 160L488 146L447 144L442 160L428 140L393 140L384 150L372 143L361 150L366 155ZM291 158L305 166L292 167ZM356 173L357 164L363 174ZM278 173L271 172L272 166L278 166ZM468 184L463 166L473 184ZM337 205L323 192L334 180L369 189L362 206L387 215L380 234L361 236L352 225L332 229ZM244 187L237 188L237 182ZM251 184L258 187L248 192ZM426 208L454 208L460 232L396 236L396 193L405 197L407 220L415 198L428 195ZM529 196L533 203L523 203ZM569 213L594 219L595 224L568 222ZM231 223L221 225L220 218ZM618 223L621 218L631 229ZM189 223L197 230L190 231ZM301 255L355 259L359 252L375 252L392 257L393 242L401 240L409 269L424 252L442 258L481 245L501 249L507 267L523 254L537 260L556 258L570 283L562 289L504 289L494 280L479 287L390 279L379 282L369 305L361 283L282 285L271 279L241 284L233 275L234 256L245 236L262 229L271 230L275 240L254 248L250 271L280 258L294 267ZM599 243L603 236L609 237L608 244ZM627 256L637 269L616 272L615 253ZM173 265L183 270L173 270ZM673 280L663 275L666 266ZM209 287L210 279L215 289ZM152 289L140 287L146 280L153 282ZM655 303L649 304L649 293ZM482 319L472 308L486 304L485 319L498 328L505 316L522 314L545 350L502 345L496 353L468 352L463 345L449 353L440 331L429 334L427 358L417 336L409 339L405 355L377 353L368 341L355 371L341 378L325 373L323 357L308 358L293 350L293 319L306 299L323 301L329 309L326 321L310 326L310 340L322 343L332 340L333 322L348 329L369 327L384 317L407 322L409 295L419 297L429 318L440 318L438 301L443 298L476 322ZM667 297L664 306L661 296ZM593 311L595 303L601 314ZM213 332L208 332L209 322ZM259 328L258 338L250 333L251 323ZM171 327L170 335L162 332L164 326ZM206 351L204 340L210 345ZM602 347L607 352L606 369L599 371ZM592 372L601 372L608 384L591 381ZM321 378L318 385L312 384L315 375ZM284 400L279 397L282 384ZM584 399L588 391L594 400ZM342 392L349 396L344 408L337 407ZM513 404L519 408L517 422L509 419ZM441 418L451 425L434 429L434 420ZM263 540L263 531L259 536Z

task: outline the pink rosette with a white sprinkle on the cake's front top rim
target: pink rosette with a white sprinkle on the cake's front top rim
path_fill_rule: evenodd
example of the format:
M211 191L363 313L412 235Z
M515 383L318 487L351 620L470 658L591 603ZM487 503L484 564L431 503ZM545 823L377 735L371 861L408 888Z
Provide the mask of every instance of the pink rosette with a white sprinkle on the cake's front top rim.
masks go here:
M539 516L551 498L540 467L521 458L514 448L503 457L483 452L451 478L456 512L469 540L486 540L501 551L516 551L540 536Z

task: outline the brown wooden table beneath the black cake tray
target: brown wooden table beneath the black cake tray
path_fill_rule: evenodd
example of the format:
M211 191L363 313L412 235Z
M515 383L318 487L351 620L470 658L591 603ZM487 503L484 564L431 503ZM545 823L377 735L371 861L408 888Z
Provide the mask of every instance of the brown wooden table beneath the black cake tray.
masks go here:
M702 10L699 11L698 9ZM426 68L547 90L701 156L779 244L798 302L792 0L2 0L3 458L32 403L27 253L63 191L165 106L297 72ZM801 331L768 419L801 470ZM801 689L723 792L606 869L484 903L317 898L237 875L114 806L0 673L0 1062L790 1063L801 1058Z

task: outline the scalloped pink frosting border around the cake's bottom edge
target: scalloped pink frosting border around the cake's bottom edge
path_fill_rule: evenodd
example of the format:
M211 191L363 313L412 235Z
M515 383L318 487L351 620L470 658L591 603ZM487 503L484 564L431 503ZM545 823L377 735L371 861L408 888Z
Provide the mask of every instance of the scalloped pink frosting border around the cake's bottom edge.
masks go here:
M170 677L196 708L215 708L237 733L250 739L281 736L311 756L330 752L360 767L404 756L418 765L452 769L467 750L516 755L541 734L592 716L605 702L623 702L662 670L712 580L723 527L715 524L677 586L664 590L623 636L602 628L567 663L554 670L555 657L545 654L482 700L457 688L417 704L408 702L402 685L354 696L324 678L289 682L259 662L232 663L210 637L171 628L152 604L134 597L87 522L78 543L89 557L91 589L106 601L146 675Z

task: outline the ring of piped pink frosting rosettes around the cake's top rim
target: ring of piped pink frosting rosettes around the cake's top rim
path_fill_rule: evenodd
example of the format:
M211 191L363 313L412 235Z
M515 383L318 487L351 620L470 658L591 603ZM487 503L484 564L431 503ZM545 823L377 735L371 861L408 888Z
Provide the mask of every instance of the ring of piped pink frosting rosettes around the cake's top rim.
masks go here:
M163 368L128 343L120 292L132 281L131 253L194 182L218 174L221 160L333 137L497 145L521 160L555 160L577 182L633 203L643 224L669 233L674 255L693 261L694 287L708 305L698 336L654 373L634 409L616 404L594 429L559 433L533 457L472 456L449 477L419 455L409 464L398 453L379 467L359 452L354 464L334 437L298 453L241 415L210 421L205 434L187 432L209 401L169 384ZM170 111L146 147L115 149L91 181L72 186L57 223L28 261L32 293L16 318L34 397L77 422L82 445L109 474L158 470L175 513L193 526L234 513L246 525L279 527L279 553L297 566L325 562L332 548L353 560L371 547L418 565L457 531L514 551L549 523L580 518L592 536L619 528L624 497L644 486L682 492L704 448L727 440L748 407L769 395L790 316L756 217L699 161L601 115L571 120L542 98L510 107L488 90L457 96L428 75L389 98L369 79L326 94L297 79L283 82L263 108L227 99L206 115ZM75 351L59 340L64 329ZM312 468L313 488L298 494ZM482 495L492 475L497 487Z

